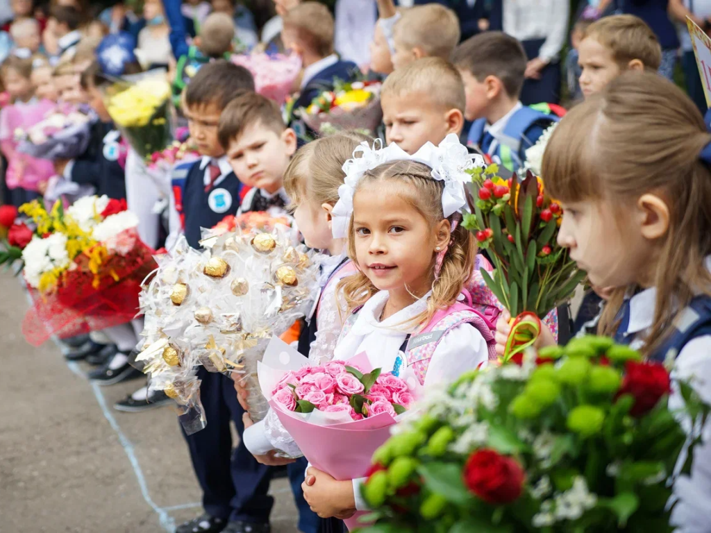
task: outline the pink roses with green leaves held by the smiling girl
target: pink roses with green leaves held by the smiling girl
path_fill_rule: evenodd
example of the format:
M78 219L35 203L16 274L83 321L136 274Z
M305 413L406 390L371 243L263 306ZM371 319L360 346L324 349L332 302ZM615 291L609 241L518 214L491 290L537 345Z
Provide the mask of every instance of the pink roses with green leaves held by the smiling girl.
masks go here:
M331 361L319 367L301 367L287 372L272 391L272 401L296 413L344 413L353 420L404 413L415 398L407 383L380 368L364 374L345 361Z

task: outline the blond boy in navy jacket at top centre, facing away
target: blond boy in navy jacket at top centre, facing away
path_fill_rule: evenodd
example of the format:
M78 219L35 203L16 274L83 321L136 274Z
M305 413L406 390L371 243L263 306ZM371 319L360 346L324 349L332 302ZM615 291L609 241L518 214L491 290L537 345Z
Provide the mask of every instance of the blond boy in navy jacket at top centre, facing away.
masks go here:
M333 90L336 80L353 80L360 72L352 61L338 58L333 48L333 33L333 16L319 2L304 2L284 14L282 42L285 48L299 55L304 67L301 92L292 106L296 112L289 120L289 125L301 139L314 132L306 128L298 110L309 107L311 100L321 92Z

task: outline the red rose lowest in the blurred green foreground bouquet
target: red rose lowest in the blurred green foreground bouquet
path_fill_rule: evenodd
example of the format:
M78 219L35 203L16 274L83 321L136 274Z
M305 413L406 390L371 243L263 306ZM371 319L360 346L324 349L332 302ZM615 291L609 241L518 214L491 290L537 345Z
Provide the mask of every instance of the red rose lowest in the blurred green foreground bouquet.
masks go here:
M493 505L518 500L523 491L523 468L495 450L479 450L464 465L464 485Z

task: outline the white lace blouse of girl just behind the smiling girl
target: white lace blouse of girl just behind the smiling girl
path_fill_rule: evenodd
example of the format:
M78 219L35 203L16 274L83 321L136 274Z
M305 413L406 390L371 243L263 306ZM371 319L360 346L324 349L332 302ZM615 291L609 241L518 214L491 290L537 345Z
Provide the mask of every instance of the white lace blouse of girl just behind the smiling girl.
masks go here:
M328 257L321 262L321 277L319 278L319 286L325 289L324 293L319 298L319 329L316 331L316 340L311 343L309 351L309 360L314 365L324 365L333 357L333 350L336 348L338 335L343 327L343 320L346 319L346 304L343 298L336 296L336 288L338 279L352 274L347 269L341 269L335 275L333 274L338 266L343 264L346 259L346 252L341 255ZM333 275L333 278L331 276ZM328 284L331 279L331 284ZM328 286L327 286L328 284ZM316 306L314 306L316 311ZM316 320L315 313L311 315L311 320ZM272 450L282 450L292 457L303 455L299 446L296 445L289 432L284 429L279 417L269 409L264 420L257 422L254 426L245 429L242 434L247 450L254 455L264 455Z

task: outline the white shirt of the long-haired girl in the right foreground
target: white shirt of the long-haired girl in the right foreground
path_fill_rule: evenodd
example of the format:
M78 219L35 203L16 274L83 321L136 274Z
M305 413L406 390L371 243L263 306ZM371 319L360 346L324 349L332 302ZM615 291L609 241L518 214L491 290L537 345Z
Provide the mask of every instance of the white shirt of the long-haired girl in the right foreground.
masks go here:
M711 270L711 257L706 258L706 267ZM652 287L630 298L630 318L627 332L634 335L630 348L641 348L649 328L654 323L657 290ZM702 335L691 340L682 348L674 362L672 380L685 379L690 382L704 402L711 404L711 335ZM683 407L683 398L672 381L669 409ZM688 423L682 421L685 431ZM685 461L683 452L677 463L679 470ZM674 507L670 524L675 533L710 533L711 522L711 422L704 428L703 442L694 450L694 463L690 476L675 480L670 502L679 500Z

